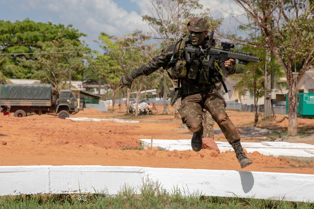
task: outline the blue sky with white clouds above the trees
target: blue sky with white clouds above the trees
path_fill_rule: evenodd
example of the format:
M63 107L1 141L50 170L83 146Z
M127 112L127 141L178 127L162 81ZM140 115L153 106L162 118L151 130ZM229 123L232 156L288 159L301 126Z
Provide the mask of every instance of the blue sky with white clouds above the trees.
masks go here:
M237 7L232 0L199 0L199 3L210 8L214 18L224 18L221 29L231 26L228 12L230 7ZM141 18L141 14L149 14L149 0L0 0L0 5L0 20L15 22L29 18L35 22L72 24L74 29L88 35L81 40L92 50L100 49L92 40L98 40L101 32L118 37L135 29L151 32Z

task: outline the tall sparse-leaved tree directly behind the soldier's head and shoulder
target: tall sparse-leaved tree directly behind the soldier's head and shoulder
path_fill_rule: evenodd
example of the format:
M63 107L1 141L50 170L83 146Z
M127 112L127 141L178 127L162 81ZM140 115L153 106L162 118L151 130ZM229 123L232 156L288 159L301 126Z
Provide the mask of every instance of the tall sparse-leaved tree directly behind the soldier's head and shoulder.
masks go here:
M156 39L162 48L168 44L174 43L183 34L187 33L187 23L195 16L193 12L203 9L203 5L198 0L149 0L151 6L147 6L150 15L142 15L143 20L149 25L149 28L155 34ZM198 14L207 18L211 24L211 30L214 30L221 24L221 19L214 20L211 18L209 9L205 8L204 12ZM167 74L164 71L163 77L166 78ZM167 83L167 82L163 82ZM174 87L177 83L174 82ZM164 86L163 89L167 87ZM166 92L164 92L164 99ZM179 101L176 102L176 109L179 108ZM166 113L166 102L164 104L164 113ZM175 118L180 118L178 112L175 112Z

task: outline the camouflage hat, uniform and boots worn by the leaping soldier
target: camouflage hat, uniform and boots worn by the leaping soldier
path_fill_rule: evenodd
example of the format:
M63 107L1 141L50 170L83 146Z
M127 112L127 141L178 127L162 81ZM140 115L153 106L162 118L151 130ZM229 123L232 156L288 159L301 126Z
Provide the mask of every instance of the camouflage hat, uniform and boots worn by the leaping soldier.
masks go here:
M192 18L191 21L187 24L187 29L192 32L202 32L207 31L209 28L209 24L207 23L205 18ZM197 33L196 33L197 34ZM198 33L200 34L200 33ZM195 36L195 35L194 35ZM189 45L189 47L194 47L191 43L193 40L190 39L192 37L192 33L189 38L185 39L185 43ZM195 39L194 39L195 40ZM209 38L208 36L204 39L202 48L205 49L208 47ZM171 58L173 58L173 51L177 50L178 53L183 53L183 51L178 50L176 48L176 44L168 45L162 52L155 56L149 62L141 65L139 68L134 69L131 73L126 76L122 76L119 82L119 87L127 86L131 88L132 81L138 76L148 76L154 71L160 69L160 67L164 67L167 63L170 62ZM183 56L185 53L183 53ZM184 57L183 57L184 58ZM220 62L217 63L221 64ZM187 66L189 71L191 68ZM231 63L228 67L226 67L228 71L227 75L233 75L236 72L235 62ZM236 156L241 164L241 168L246 167L252 163L252 160L248 162L248 158L243 153L240 144L240 136L234 126L234 124L229 119L227 113L225 112L226 102L224 98L219 94L216 90L214 83L207 84L199 84L196 77L186 76L180 78L182 95L181 95L181 106L179 109L179 113L182 118L182 122L187 124L187 128L193 132L193 138L198 138L200 143L202 143L202 135L203 135L203 115L202 109L207 110L212 118L216 121L216 123L221 128L222 132L225 134L228 142L234 147L236 151ZM195 134L197 133L197 134ZM193 138L192 138L192 148L193 148ZM202 149L202 145L199 150ZM193 148L194 151L199 151ZM240 150L240 151L239 151ZM242 151L241 151L242 150ZM245 157L244 157L245 156ZM240 160L241 159L241 160ZM245 163L243 161L245 159Z

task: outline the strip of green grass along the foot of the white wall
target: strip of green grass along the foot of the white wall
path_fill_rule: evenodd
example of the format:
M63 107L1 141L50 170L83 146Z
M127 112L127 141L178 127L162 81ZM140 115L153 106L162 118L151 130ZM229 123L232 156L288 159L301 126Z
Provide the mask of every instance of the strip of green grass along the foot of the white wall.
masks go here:
M232 193L233 194L233 193ZM101 194L53 194L0 196L0 208L10 209L314 209L314 203L254 198L205 196L199 191L186 191L174 186L171 191L162 188L160 182L143 183L141 188L123 185L117 195Z

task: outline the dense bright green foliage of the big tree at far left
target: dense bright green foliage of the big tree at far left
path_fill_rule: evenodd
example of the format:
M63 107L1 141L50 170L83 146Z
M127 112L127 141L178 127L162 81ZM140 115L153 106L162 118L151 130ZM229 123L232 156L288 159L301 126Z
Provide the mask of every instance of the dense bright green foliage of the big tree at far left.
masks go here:
M20 65L21 62L25 64L25 60L37 61L39 59L60 59L60 56L48 58L47 56L41 57L41 55L25 55L20 53L43 53L43 52L64 52L67 50L84 50L82 44L80 43L80 38L86 36L86 34L79 33L77 29L73 29L72 25L65 27L62 24L52 24L34 22L30 19L25 19L23 21L15 21L11 23L10 21L0 20L0 52L3 54L10 53L15 55L10 55L11 63L14 65ZM52 44L62 42L61 44ZM72 42L71 44L65 44L65 42ZM59 48L59 49L57 49ZM71 56L71 62L73 57ZM78 56L79 57L79 56ZM38 75L40 72L38 68L34 70L34 63L27 63L29 65L21 65L19 68L14 70L3 72L4 75L13 78L22 79L44 79L47 76L45 73L43 75ZM44 64L42 64L44 65ZM38 65L36 67L39 67ZM41 71L44 72L44 71ZM36 75L35 75L36 74ZM73 74L80 75L80 74ZM79 79L73 78L75 79ZM51 81L54 82L54 81Z

